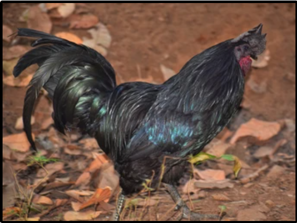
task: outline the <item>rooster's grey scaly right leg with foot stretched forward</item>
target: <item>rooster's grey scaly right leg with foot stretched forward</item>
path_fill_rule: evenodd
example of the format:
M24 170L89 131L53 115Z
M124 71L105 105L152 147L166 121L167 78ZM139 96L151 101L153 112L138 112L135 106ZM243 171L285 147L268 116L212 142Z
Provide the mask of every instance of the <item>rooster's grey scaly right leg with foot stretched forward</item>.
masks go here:
M176 203L176 209L181 210L182 215L178 220L182 219L188 219L191 221L202 221L205 219L219 219L220 217L218 215L203 215L203 214L198 214L194 213L190 210L190 208L187 206L187 204L182 200L178 190L176 187L169 185L169 184L164 184L165 188L171 195L173 201Z

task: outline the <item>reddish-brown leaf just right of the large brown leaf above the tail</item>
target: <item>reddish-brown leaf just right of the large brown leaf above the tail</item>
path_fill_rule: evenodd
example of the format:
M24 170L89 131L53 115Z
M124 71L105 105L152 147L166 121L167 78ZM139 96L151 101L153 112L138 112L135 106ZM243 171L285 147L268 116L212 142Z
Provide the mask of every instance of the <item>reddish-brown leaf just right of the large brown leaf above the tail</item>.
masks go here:
M93 14L72 15L69 20L70 29L89 29L99 22L98 17Z

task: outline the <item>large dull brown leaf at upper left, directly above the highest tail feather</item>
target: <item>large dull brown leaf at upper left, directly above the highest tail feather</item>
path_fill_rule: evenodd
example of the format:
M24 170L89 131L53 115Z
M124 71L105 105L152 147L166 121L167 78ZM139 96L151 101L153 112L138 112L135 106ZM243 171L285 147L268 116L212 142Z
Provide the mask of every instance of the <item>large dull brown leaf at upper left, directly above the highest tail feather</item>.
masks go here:
M29 9L28 28L51 33L53 24L47 13L42 12L38 6L34 6Z

